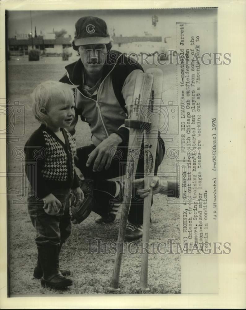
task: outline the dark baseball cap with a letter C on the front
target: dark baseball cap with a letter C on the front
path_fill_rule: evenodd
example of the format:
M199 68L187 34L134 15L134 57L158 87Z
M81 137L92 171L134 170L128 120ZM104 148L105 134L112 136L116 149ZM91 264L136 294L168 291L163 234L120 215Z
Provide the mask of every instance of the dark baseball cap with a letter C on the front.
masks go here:
M85 16L75 24L74 44L108 44L110 36L104 20L94 16Z

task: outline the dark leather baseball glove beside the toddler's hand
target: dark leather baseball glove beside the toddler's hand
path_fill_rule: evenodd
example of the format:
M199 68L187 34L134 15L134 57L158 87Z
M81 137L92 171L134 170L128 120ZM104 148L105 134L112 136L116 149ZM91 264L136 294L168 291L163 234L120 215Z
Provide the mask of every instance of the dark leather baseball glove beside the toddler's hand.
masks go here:
M80 224L84 221L93 209L95 200L93 197L93 185L94 181L91 179L85 179L81 182L80 188L84 193L84 199L81 203L74 206L75 197L71 197L71 213L72 213L72 223Z

